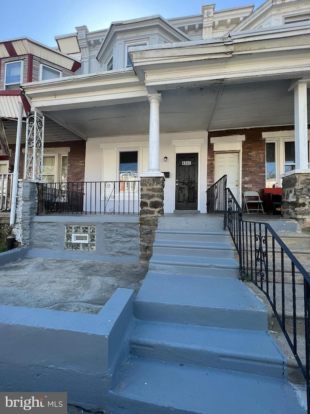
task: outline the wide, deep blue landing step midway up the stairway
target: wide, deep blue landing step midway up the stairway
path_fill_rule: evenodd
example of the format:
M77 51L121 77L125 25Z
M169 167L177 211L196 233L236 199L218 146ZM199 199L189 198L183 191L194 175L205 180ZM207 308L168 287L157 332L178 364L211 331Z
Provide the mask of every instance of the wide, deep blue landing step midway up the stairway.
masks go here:
M137 318L230 329L268 329L262 302L235 279L149 271L134 302Z

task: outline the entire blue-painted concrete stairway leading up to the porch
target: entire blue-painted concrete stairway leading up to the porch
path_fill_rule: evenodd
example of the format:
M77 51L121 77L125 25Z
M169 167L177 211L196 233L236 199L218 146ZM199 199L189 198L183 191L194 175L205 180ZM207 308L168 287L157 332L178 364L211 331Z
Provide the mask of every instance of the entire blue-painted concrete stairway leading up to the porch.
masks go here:
M221 225L206 215L160 218L113 414L305 413Z

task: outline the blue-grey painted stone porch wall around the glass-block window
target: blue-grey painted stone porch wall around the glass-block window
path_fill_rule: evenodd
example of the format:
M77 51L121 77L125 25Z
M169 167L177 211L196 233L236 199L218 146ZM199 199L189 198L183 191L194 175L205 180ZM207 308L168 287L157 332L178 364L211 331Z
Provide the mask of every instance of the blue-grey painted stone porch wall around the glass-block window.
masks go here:
M65 226L95 226L96 251L66 250ZM39 215L32 218L27 257L139 261L138 215Z

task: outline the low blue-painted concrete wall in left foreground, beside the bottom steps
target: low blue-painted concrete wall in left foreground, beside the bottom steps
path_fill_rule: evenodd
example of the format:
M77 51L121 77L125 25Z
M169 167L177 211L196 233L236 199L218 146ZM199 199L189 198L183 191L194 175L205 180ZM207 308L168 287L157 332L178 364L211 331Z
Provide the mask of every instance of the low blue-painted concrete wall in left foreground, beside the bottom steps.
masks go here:
M129 353L133 299L118 289L98 315L0 306L0 391L67 391L68 403L104 410Z

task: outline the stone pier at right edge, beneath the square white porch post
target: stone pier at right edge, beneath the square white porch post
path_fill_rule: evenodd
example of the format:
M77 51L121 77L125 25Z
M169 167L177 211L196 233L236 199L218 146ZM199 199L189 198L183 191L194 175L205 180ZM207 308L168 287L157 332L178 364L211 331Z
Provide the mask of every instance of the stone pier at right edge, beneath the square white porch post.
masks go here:
M310 173L293 172L284 176L282 200L284 218L293 218L298 231L310 234Z

